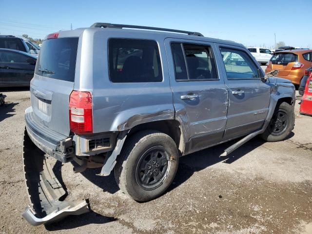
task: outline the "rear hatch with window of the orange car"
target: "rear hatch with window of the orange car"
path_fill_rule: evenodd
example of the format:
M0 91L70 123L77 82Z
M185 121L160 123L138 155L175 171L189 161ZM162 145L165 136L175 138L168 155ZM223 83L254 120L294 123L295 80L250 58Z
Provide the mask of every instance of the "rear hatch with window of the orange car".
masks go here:
M288 76L292 66L298 61L298 56L289 52L275 53L270 59L272 70L279 70L278 75Z

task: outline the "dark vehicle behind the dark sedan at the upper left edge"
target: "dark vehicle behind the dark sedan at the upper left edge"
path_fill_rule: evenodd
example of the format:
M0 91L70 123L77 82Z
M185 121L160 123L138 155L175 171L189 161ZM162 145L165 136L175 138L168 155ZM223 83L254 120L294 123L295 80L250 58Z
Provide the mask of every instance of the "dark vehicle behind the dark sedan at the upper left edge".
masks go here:
M20 50L34 56L39 54L39 49L33 42L12 35L0 35L0 48Z

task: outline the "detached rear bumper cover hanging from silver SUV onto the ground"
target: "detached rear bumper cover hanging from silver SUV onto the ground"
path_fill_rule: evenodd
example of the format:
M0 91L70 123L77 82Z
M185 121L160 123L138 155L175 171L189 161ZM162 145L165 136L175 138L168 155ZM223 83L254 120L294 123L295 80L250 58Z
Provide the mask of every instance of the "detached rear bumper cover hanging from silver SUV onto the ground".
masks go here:
M33 226L58 221L68 215L89 212L84 199L60 201L66 195L45 154L31 141L25 129L23 136L23 170L26 189L31 205L23 217Z

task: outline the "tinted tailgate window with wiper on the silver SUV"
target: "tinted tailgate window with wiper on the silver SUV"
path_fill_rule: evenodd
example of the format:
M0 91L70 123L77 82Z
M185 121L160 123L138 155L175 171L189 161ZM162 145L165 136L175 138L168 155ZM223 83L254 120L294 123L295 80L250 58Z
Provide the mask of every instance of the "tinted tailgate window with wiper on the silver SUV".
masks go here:
M78 38L44 40L35 74L74 82Z

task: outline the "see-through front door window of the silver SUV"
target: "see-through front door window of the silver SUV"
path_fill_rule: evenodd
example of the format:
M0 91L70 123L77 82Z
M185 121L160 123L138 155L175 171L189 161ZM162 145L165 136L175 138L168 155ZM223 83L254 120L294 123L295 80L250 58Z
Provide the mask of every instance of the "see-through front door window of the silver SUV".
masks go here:
M228 79L258 79L259 71L249 55L241 50L220 48Z

